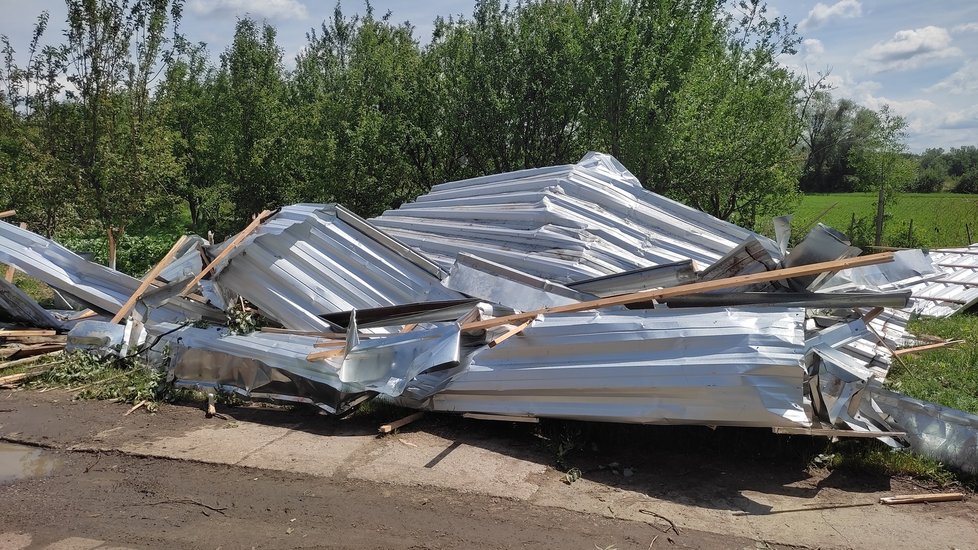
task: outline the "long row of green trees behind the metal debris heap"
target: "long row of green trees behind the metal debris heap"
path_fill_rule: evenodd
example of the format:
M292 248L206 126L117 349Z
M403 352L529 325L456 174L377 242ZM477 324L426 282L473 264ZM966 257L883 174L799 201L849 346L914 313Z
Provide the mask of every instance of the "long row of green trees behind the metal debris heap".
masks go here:
M478 1L430 42L337 5L294 69L267 23L240 19L212 59L174 31L180 0L67 5L63 43L42 14L25 66L3 40L0 208L112 250L127 232L226 235L293 202L371 216L589 150L745 226L802 189L918 179L903 120L781 65L800 37L760 0Z

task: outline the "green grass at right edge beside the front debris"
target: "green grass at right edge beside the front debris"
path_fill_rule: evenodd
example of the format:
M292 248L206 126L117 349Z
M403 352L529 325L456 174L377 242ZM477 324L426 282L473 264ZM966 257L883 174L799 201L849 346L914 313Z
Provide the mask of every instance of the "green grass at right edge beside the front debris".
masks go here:
M978 315L918 319L909 328L914 334L964 342L902 356L890 367L887 385L911 397L978 414Z

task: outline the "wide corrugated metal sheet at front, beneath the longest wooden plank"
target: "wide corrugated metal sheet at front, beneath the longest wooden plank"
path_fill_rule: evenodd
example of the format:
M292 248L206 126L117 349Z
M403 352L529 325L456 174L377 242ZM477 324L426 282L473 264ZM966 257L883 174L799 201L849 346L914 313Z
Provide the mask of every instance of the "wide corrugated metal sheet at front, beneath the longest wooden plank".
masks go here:
M771 308L549 315L457 369L419 376L406 395L439 411L808 426L803 319Z

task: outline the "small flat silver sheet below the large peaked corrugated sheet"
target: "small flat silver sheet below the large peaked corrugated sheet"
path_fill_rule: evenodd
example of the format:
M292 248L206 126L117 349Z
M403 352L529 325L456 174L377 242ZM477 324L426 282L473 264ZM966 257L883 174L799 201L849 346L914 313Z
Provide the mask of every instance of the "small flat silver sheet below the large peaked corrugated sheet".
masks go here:
M594 299L594 295L466 253L456 257L443 284L462 294L521 311Z

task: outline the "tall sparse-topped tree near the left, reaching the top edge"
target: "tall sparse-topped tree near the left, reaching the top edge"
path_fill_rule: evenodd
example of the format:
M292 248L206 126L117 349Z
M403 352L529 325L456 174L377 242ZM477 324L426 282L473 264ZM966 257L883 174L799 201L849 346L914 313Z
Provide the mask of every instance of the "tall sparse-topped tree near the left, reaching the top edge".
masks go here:
M108 264L129 225L165 205L175 177L171 136L150 102L180 0L67 0L68 81L81 124L75 134L80 198L108 237Z

